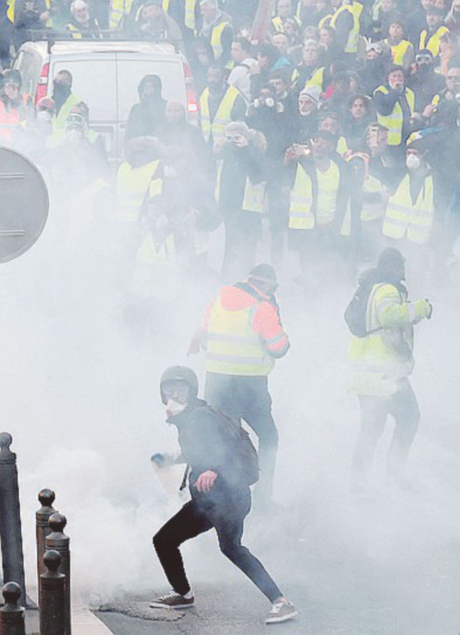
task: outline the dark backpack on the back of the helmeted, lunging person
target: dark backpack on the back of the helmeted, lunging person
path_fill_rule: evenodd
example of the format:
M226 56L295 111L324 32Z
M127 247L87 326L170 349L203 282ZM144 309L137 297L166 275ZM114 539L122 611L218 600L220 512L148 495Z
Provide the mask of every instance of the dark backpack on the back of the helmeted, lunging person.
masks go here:
M240 422L227 417L220 410L215 410L219 415L222 430L230 440L233 455L234 481L241 485L254 485L259 480L259 457L250 439L249 434Z

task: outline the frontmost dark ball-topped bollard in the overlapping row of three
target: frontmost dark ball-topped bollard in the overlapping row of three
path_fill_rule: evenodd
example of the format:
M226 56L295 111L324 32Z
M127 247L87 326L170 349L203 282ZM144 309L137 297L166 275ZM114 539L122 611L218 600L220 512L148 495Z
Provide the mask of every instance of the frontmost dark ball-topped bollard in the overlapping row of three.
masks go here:
M40 585L40 635L65 634L65 575L58 573L61 556L57 551L46 551L43 556L46 569Z

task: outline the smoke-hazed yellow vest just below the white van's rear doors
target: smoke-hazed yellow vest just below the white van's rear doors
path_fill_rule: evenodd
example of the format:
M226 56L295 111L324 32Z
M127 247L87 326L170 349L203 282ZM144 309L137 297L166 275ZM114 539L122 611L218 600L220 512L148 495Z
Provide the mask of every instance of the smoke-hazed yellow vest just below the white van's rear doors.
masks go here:
M153 185L161 179L154 179L158 170L159 161L151 161L140 168L133 168L127 161L121 164L117 173L117 206L118 216L121 220L135 222L139 217L140 206L144 201L147 190L153 187L152 196L161 193L157 191L158 184ZM162 187L162 186L161 186ZM149 191L149 197L150 196Z

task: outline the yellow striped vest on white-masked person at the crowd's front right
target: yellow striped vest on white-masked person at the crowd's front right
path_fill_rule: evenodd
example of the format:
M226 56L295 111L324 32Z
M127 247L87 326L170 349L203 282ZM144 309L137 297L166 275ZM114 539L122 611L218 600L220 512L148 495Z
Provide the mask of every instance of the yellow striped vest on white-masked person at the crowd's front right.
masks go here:
M430 240L434 220L433 177L425 178L413 204L410 175L406 174L395 194L388 199L382 233L394 239L407 236L411 243L426 244Z

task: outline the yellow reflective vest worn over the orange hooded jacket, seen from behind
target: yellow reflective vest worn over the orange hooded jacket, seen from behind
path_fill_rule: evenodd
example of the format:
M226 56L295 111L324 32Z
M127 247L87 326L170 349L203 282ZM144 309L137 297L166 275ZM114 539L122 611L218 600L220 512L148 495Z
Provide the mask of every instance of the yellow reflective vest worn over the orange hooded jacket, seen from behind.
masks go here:
M211 309L206 334L206 371L222 375L265 376L274 361L267 354L252 320L259 305L228 311L220 297Z

